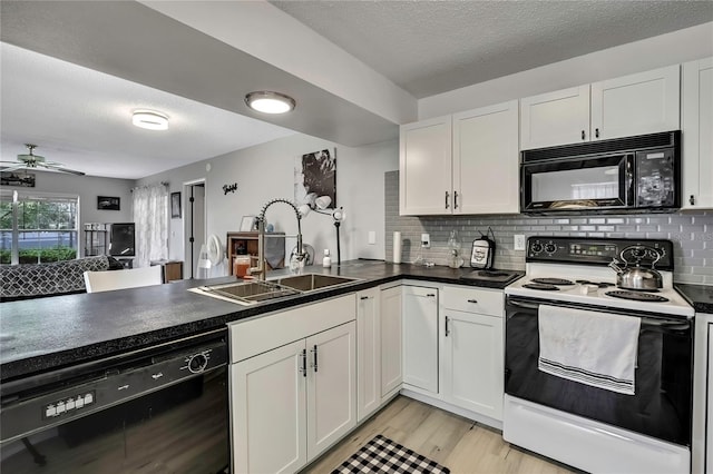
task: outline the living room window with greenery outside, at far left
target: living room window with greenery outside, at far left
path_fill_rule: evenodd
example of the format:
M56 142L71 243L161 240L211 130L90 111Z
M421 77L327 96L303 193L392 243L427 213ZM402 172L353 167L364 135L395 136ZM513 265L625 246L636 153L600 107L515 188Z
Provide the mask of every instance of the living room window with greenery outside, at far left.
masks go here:
M77 258L79 197L7 191L0 195L0 264Z

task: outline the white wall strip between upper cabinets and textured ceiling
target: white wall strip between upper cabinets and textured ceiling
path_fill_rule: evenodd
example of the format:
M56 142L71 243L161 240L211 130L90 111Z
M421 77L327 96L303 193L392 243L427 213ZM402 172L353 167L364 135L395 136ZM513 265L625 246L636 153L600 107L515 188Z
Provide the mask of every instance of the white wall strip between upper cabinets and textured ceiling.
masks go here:
M713 22L419 100L419 120L713 56Z

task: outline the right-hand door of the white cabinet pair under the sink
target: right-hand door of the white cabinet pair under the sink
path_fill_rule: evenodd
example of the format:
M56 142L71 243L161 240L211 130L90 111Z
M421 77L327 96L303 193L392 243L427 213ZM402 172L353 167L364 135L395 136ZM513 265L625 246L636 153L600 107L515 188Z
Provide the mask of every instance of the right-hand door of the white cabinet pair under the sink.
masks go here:
M355 336L351 322L306 338L309 460L356 426Z

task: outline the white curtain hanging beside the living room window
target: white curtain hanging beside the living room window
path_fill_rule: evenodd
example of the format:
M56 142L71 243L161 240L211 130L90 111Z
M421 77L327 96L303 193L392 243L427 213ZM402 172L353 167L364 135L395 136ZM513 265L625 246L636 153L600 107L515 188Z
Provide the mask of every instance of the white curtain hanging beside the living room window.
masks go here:
M134 188L137 267L168 257L168 190L164 184Z

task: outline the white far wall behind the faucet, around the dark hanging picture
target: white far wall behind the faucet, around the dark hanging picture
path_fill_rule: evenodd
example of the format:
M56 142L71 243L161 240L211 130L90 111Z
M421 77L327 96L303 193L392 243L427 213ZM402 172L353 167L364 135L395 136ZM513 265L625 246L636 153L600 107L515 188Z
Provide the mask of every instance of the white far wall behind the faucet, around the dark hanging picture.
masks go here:
M340 229L342 260L383 259L383 179L385 171L399 168L397 140L350 148L296 134L146 177L138 182L168 181L173 192L182 190L183 182L205 177L207 235L217 235L225 245L226 233L240 230L243 216L260 214L262 207L274 198L294 199L295 159L325 148L334 152L335 147L336 200L338 206L343 206L346 211L346 220ZM211 170L206 171L208 164ZM237 182L237 191L224 194L223 185L233 182ZM183 208L186 209L185 196L182 197ZM296 218L289 206L275 204L265 217L275 226L275 230L296 234ZM370 230L377 235L375 245L368 244ZM318 256L329 248L333 260L336 260L336 233L331 216L310 214L302 221L302 233L304 243L312 245ZM183 260L183 219L170 219L169 236L170 258ZM294 239L290 239L289 249L295 244Z

